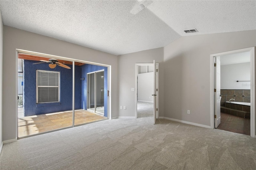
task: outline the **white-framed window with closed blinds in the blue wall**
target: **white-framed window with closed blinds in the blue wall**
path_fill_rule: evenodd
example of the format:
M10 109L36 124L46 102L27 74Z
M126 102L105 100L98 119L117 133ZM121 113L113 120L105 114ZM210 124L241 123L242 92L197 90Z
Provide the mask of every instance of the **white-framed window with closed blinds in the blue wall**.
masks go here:
M36 70L36 103L60 101L60 72Z

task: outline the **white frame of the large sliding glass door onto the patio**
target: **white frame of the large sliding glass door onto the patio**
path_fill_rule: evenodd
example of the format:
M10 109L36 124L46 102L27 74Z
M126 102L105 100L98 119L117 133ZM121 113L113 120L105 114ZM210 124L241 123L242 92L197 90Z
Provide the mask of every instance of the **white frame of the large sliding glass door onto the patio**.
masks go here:
M50 55L50 54L45 54L45 53L38 53L38 52L34 52L34 51L27 51L27 50L23 50L23 49L16 49L16 82L15 82L15 86L16 86L16 97L18 96L18 53L25 53L25 54L29 54L29 55L37 55L37 56L42 56L42 57L48 57L48 58L55 58L55 59L62 59L62 60L66 60L66 61L72 61L73 62L73 87L72 87L72 107L74 108L74 62L79 62L79 63L85 63L85 64L91 64L91 65L98 65L98 66L103 66L103 67L107 67L108 68L108 119L111 119L111 65L106 65L106 64L100 64L100 63L93 63L93 62L89 62L89 61L83 61L83 60L79 60L79 59L72 59L72 58L67 58L67 57L60 57L57 55ZM74 109L73 110L73 115L74 115ZM83 125L83 124L81 124ZM74 118L73 118L73 126L80 126L80 125L74 125ZM67 128L71 128L71 127L67 127ZM26 138L26 137L30 137L30 136L36 136L39 134L44 134L44 133L48 133L48 132L52 132L52 131L58 131L58 130L62 130L65 128L60 128L60 129L56 129L56 130L50 130L47 132L42 132L42 133L38 133L38 134L32 134L32 135L28 135L28 136L24 136L24 137L20 137L20 138ZM16 138L18 138L18 100L16 100Z

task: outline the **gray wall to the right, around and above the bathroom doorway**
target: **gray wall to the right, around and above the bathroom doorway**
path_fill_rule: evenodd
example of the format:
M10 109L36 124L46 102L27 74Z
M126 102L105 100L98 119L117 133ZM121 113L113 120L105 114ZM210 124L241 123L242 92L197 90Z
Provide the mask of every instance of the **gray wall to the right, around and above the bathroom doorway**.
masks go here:
M210 126L210 55L254 46L256 30L186 36L164 47L164 117Z

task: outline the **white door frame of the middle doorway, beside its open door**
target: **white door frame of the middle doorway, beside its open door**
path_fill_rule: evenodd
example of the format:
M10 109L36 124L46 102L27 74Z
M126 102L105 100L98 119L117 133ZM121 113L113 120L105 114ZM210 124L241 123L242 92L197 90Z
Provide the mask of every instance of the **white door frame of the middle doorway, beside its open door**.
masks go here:
M150 66L150 65L154 65L153 63L136 63L135 64L135 118L137 118L137 101L138 101L138 83L137 83L137 77L138 77L138 67L139 66ZM157 69L159 70L159 63L156 63L157 65ZM156 115L156 118L159 117L159 71L157 72L157 80L156 80L156 87L158 89L157 91L157 108L158 108L158 111L157 111L157 115ZM154 92L152 92L153 94Z

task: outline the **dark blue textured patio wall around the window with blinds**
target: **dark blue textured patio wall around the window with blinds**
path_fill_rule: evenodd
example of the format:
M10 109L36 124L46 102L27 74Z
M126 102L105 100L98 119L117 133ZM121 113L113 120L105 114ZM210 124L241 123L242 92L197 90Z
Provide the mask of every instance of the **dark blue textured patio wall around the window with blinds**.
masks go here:
M72 110L72 65L50 69L48 63L24 60L24 116ZM60 71L60 102L36 104L36 70ZM82 68L75 66L75 109L81 109Z

